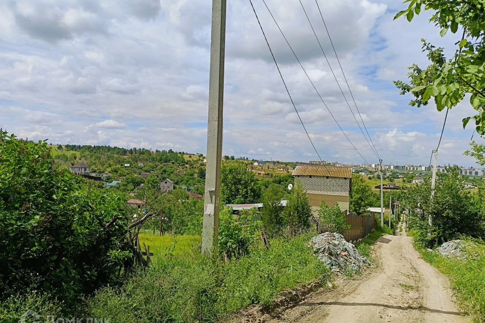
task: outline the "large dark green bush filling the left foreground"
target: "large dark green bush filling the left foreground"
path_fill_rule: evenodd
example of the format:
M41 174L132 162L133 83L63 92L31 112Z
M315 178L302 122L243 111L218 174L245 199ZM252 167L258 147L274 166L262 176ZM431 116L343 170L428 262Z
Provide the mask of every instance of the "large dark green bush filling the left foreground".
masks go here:
M0 299L33 288L72 304L122 270L125 201L90 183L55 170L45 141L0 132Z

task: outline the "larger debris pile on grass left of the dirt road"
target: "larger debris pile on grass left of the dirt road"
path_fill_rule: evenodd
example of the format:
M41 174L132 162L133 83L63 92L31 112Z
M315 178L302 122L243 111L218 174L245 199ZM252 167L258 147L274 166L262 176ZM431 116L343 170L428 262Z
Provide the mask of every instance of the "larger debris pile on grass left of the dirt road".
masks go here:
M318 259L334 273L357 273L370 265L369 260L338 233L325 232L315 236L310 240L309 246L313 248Z

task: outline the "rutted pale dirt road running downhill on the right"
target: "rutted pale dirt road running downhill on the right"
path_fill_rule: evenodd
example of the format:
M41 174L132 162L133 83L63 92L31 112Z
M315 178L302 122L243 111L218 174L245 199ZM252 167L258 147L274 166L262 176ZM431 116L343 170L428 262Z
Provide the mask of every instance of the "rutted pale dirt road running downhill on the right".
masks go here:
M466 322L448 279L420 258L410 237L386 235L374 248L375 268L309 296L270 322Z

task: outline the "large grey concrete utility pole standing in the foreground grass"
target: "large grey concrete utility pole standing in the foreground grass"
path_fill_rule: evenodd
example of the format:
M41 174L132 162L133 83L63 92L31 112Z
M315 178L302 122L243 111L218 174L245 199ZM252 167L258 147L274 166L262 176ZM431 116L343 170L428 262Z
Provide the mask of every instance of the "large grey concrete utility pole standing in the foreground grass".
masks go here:
M213 0L206 186L204 191L204 221L202 227L202 252L204 254L210 254L213 247L217 246L217 233L219 230L225 34L226 0Z

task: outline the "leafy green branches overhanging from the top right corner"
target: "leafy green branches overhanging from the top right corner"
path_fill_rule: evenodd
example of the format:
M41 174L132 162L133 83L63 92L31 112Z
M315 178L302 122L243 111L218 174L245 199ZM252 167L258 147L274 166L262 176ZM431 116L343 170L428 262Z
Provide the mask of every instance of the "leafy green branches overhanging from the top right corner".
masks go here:
M409 83L395 81L394 84L401 94L413 94L410 105L426 105L433 97L438 111L445 107L451 109L469 95L477 113L463 119L463 128L474 119L476 132L485 134L485 0L406 0L404 3L409 3L408 8L394 19L405 16L411 21L422 8L432 10L430 22L441 29L442 37L449 30L461 37L455 43L455 55L449 59L443 48L422 39L423 52L431 64L425 69L413 64L409 67Z

